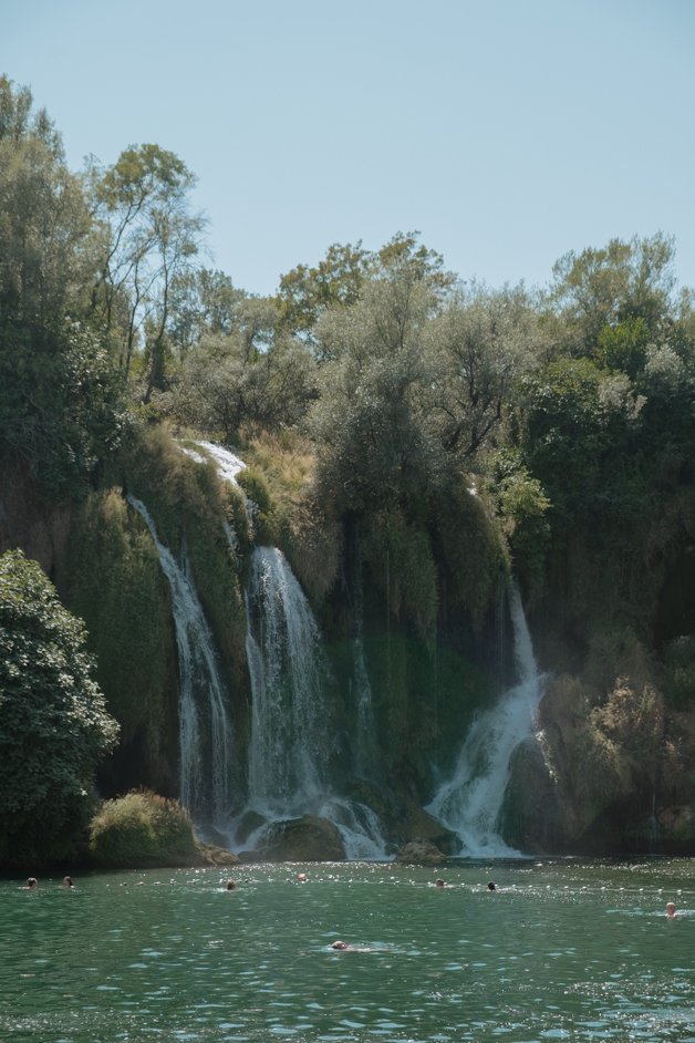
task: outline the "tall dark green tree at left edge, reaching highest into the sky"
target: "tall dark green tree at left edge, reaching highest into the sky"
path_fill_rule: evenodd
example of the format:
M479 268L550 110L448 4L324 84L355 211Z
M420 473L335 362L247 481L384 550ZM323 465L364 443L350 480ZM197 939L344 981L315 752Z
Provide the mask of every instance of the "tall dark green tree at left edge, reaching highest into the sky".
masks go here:
M123 430L120 386L89 326L94 227L60 137L0 78L0 454L64 490Z

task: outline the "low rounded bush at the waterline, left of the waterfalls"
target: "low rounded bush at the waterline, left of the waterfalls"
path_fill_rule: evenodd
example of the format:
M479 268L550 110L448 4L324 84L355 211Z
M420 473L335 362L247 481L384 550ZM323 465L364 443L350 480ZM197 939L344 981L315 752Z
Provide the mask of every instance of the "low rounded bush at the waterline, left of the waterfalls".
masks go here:
M90 824L90 857L110 869L190 865L198 849L178 801L139 791L102 805Z

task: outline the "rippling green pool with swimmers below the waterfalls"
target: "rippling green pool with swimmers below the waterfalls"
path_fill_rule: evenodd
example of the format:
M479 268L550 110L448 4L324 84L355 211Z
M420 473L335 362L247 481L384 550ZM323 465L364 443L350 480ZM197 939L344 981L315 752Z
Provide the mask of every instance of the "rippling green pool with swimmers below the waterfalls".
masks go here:
M695 1043L694 869L252 866L230 892L215 869L4 880L0 1041Z

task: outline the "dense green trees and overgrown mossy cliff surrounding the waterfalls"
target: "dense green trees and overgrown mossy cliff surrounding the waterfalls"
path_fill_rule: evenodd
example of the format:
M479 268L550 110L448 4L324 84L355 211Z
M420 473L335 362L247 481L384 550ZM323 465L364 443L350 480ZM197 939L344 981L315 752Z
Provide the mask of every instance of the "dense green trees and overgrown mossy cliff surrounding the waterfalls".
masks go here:
M516 758L505 836L692 853L695 302L674 241L494 289L396 233L259 297L205 267L194 185L155 144L69 169L0 79L0 861L63 857L100 797L179 795L169 595L127 496L186 546L241 744L253 547L311 602L341 734L359 617L381 775L350 785L394 847L436 837L422 807L508 677L514 575L548 680L543 771ZM181 452L201 440L243 458L238 487Z

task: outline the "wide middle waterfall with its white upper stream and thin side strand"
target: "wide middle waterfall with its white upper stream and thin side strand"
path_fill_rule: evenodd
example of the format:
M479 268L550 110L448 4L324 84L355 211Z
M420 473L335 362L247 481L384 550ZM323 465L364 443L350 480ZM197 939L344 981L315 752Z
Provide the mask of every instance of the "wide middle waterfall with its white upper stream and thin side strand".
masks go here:
M196 442L204 454L181 446L199 463L211 457L222 479L237 484L246 464L229 450ZM247 500L252 527L255 505ZM228 534L236 547L234 534ZM332 681L322 637L300 584L276 547L257 547L247 592L247 662L251 681L248 813L264 825L243 837L252 849L273 823L314 814L330 819L350 859L385 859L386 841L376 814L366 805L334 793L330 781ZM372 741L371 689L361 640L361 616L354 646L357 686L356 747ZM360 755L357 754L357 760ZM360 761L362 764L362 761ZM366 764L364 765L366 771ZM235 832L235 823L231 833Z

